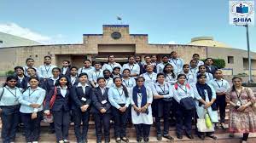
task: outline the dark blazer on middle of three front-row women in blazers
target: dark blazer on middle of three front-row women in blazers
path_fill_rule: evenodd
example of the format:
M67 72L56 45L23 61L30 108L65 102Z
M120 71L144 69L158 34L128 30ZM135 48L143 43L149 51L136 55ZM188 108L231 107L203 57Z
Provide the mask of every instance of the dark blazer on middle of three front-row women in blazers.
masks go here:
M82 89L82 87L73 86L72 89L72 94L71 94L71 100L72 100L72 109L79 109L81 106L84 105L89 105L90 107L90 102L91 102L91 87L86 86L85 87L85 93ZM86 100L82 100L82 98L85 98ZM87 110L89 111L89 110Z

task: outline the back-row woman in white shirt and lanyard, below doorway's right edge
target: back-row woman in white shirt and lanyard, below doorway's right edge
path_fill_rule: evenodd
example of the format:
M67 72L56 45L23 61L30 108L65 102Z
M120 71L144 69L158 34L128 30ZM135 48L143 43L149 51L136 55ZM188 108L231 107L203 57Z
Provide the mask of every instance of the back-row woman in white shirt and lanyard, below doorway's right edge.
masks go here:
M128 61L127 64L124 64L123 69L129 69L131 71L130 77L138 77L140 74L140 66L136 63L135 56L130 55Z

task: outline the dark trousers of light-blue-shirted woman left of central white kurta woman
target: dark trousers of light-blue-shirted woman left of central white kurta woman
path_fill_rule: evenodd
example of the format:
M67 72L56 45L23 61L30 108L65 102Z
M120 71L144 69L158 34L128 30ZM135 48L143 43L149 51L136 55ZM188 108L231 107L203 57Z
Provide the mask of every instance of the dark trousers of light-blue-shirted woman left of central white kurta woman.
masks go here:
M128 111L120 112L119 109L112 106L112 113L114 118L114 136L116 138L125 137Z

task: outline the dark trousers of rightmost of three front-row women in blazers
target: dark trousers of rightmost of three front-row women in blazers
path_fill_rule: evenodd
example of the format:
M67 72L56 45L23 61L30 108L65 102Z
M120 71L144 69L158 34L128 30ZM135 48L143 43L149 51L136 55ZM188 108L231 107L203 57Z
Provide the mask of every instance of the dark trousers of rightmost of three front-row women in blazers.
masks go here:
M104 137L105 140L109 139L109 129L110 129L110 113L94 113L96 137L97 140L102 140L102 124L104 127Z

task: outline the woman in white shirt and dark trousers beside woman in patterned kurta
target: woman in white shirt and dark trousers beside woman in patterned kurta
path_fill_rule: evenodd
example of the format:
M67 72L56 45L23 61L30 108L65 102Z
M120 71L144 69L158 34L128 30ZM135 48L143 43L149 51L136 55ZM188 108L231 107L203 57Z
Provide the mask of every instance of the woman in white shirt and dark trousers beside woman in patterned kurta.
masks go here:
M216 106L219 108L220 126L222 129L225 129L225 109L227 106L225 99L227 91L230 89L230 83L223 78L221 70L217 70L214 77L215 79L210 81L209 84L212 85L213 89L216 91Z

